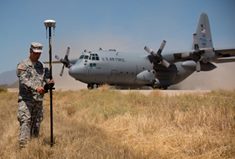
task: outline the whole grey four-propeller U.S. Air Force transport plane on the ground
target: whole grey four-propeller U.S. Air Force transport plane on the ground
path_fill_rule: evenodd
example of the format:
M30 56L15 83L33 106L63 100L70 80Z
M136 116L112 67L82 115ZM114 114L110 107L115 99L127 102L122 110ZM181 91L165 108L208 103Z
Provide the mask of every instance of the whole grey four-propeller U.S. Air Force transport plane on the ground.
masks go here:
M202 13L196 33L193 34L193 48L188 52L164 53L164 40L157 52L144 47L147 52L126 53L114 49L98 51L84 50L78 59L69 60L69 50L63 59L56 56L57 62L69 68L69 75L87 83L89 89L102 84L167 89L197 71L211 71L212 63L235 61L235 49L213 47L208 16Z

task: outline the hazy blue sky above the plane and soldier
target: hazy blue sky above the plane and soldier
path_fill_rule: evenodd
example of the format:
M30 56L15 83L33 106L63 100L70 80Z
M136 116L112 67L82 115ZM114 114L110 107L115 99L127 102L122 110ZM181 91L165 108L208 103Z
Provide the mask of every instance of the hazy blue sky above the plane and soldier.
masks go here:
M215 48L235 48L234 0L1 0L0 73L15 69L28 56L32 41L44 44L44 20L56 20L53 54L71 56L99 47L122 51L191 49L199 15L209 16Z

